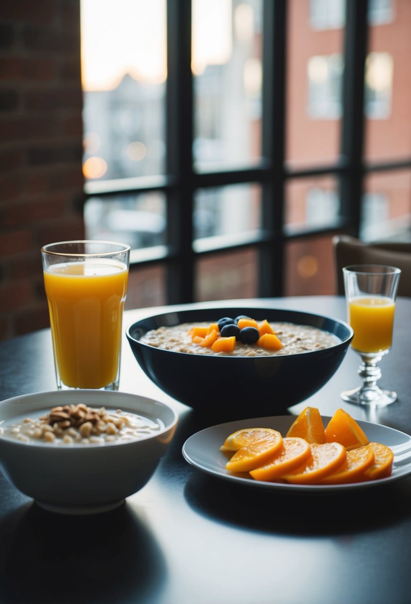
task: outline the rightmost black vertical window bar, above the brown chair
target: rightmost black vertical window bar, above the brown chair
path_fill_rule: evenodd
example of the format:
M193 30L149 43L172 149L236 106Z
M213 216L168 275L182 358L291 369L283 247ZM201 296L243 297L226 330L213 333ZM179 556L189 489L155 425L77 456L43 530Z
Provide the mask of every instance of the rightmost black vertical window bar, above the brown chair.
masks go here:
M368 48L368 0L347 0L341 155L347 171L340 179L341 213L351 234L359 236L363 193L364 72Z

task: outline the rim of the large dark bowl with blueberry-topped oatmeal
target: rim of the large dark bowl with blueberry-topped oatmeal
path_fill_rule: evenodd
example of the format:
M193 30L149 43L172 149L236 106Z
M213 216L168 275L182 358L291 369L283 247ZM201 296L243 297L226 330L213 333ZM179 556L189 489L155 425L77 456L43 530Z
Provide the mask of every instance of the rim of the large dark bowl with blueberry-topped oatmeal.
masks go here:
M219 310L223 310L223 311L229 311L229 310L236 310L237 311L241 311L243 310L244 312L247 312L247 310L249 311L253 311L253 310L257 310L257 311L262 311L262 312L280 312L280 313L287 313L290 315L307 315L313 318L317 318L317 319L322 319L322 320L327 320L327 321L333 321L336 324L339 324L342 327L345 327L348 330L348 335L346 338L342 339L340 342L337 342L337 344L334 344L333 346L328 346L325 349L319 349L319 350L307 350L307 352L300 352L300 353L291 353L290 355L267 355L267 356L253 356L253 357L247 357L247 356L230 356L230 355L193 355L193 353L188 353L188 352L178 352L177 350L167 350L167 349L163 349L163 348L159 348L159 347L154 347L151 346L150 344L145 344L145 342L140 341L140 339L137 339L133 336L132 332L133 330L136 330L137 327L140 327L141 324L144 321L149 321L152 319L155 319L159 316L167 316L167 315L181 315L181 314L185 314L185 313L201 313L201 312L209 312L209 311L216 311L218 312ZM203 320L204 321L204 320ZM272 321L272 320L270 320ZM292 321L289 321L290 323L292 323ZM284 321L284 323L287 323L287 321ZM176 323L175 325L178 325L179 323ZM296 323L298 324L298 323ZM174 325L173 325L174 326ZM168 327L173 327L173 326L168 326ZM312 326L309 326L312 327ZM317 329L321 329L321 327L318 327ZM327 331L327 330L322 330L322 331ZM328 332L330 333L330 332ZM284 358L298 358L300 356L306 356L306 355L321 355L321 353L324 353L325 351L331 350L331 349L339 349L342 346L345 346L347 344L350 344L351 340L354 337L354 330L353 328L347 323L347 321L344 321L343 319L339 319L336 318L334 316L330 316L330 315L319 315L318 313L313 313L313 312L306 312L305 310L292 310L292 309L283 309L283 308L269 308L269 307L235 307L235 306L218 306L218 307L209 307L209 308L201 308L201 309L190 309L190 308L184 308L184 309L175 309L175 310L170 310L169 312L160 312L160 313L156 313L154 315L148 315L145 316L141 319L139 319L138 321L134 321L134 323L131 323L130 325L127 326L126 330L125 330L125 334L127 336L128 341L131 343L133 342L134 344L139 345L140 348L142 348L143 350L158 350L158 352L161 353L174 353L175 355L189 355L191 358L195 357L199 357L199 358L207 358L207 359L253 359L253 361L255 362L257 359L284 359ZM333 334L335 335L335 334ZM338 336L337 336L338 337Z

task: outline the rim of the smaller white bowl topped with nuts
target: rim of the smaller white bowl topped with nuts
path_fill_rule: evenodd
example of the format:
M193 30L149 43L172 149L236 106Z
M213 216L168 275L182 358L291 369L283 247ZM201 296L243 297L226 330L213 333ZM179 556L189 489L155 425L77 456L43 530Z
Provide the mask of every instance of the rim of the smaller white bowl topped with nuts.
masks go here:
M89 394L87 394L89 393ZM97 394L98 393L98 394ZM20 442L19 440L13 440L13 439L9 439L9 438L4 438L2 435L0 435L0 443L1 446L11 446L11 447L19 447L19 448L27 448L32 451L33 449L36 449L38 451L45 451L45 449L49 450L49 451L58 451L58 454L63 454L63 455L78 455L80 451L107 451L108 448L118 448L118 447L133 447L138 445L138 443L143 443L146 442L148 440L152 440L158 437L161 437L163 434L165 434L166 432L169 432L170 430L174 429L175 426L178 423L178 413L177 411L168 403L163 402L162 400L157 400L157 399L152 399L151 397L145 396L143 394L136 394L136 393L131 393L131 392L124 392L124 391L120 391L120 390L91 390L91 389L82 389L79 388L78 390L46 390L46 391L39 391L39 392L33 392L33 393L27 393L27 394L20 394L17 396L13 396L10 397L8 399L4 399L4 400L0 400L0 426L2 425L2 421L1 421L1 408L2 406L7 406L7 405L12 405L13 402L17 403L17 401L22 401L24 402L25 399L34 399L34 398L40 398L40 397L53 397L53 396L63 396L63 397L69 397L69 396L84 396L85 398L87 398L87 396L91 396L91 394L95 394L96 396L102 396L102 397L109 397L111 396L125 396L125 397L132 397L134 399L134 397L136 397L137 399L140 399L142 402L144 403L154 403L155 405L159 405L162 406L163 408L166 408L168 411L170 411L172 413L172 419L169 423L167 423L167 425L162 421L164 427L162 428L160 426L160 429L158 431L153 432L152 434L147 434L139 439L130 439L124 442L108 442L108 443L88 443L87 445L82 445L81 443L77 443L75 446L66 446L66 445L58 445L58 446L50 446L49 443L36 443L36 442ZM67 403L66 403L67 404ZM68 403L69 404L69 403ZM87 403L86 403L87 404ZM100 407L102 406L108 406L108 405L100 405ZM116 406L116 405L110 405L110 406ZM127 405L126 405L127 406ZM117 408L120 408L119 405L116 406ZM33 413L38 413L40 410L42 410L43 407L37 407L36 409L33 409ZM44 405L44 409L47 410L49 409L48 405ZM125 413L135 413L135 414L139 414L139 412L133 412L130 409L126 410ZM22 416L24 415L24 413L19 413L18 416ZM144 417L143 412L141 413L141 415ZM17 416L16 416L17 417ZM13 417L8 418L8 420L13 420ZM151 418L152 419L152 418ZM61 451L61 453L60 453ZM64 451L64 453L63 453ZM67 453L66 453L67 451ZM71 452L71 453L70 453ZM74 453L76 452L76 453ZM0 460L0 466L1 466L1 460Z

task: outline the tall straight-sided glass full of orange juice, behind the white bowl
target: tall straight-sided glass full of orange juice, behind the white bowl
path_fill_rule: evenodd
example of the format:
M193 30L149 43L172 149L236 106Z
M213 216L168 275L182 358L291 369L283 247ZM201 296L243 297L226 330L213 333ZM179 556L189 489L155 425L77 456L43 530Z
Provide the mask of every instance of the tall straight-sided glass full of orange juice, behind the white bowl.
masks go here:
M118 390L130 246L63 241L41 252L57 388Z

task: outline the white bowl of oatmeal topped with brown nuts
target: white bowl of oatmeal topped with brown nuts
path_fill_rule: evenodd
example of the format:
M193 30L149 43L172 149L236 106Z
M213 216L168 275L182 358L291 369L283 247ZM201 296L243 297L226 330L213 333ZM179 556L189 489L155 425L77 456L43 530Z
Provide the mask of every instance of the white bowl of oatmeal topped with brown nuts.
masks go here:
M25 394L0 402L0 468L45 509L102 512L142 489L176 425L172 406L136 394Z

